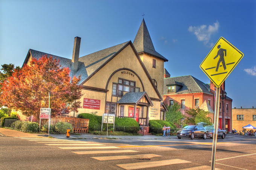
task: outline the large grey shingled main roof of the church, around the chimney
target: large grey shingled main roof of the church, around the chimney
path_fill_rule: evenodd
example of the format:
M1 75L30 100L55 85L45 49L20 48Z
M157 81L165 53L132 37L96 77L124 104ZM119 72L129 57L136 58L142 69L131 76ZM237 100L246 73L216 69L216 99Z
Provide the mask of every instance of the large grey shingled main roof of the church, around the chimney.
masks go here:
M108 59L113 57L118 51L123 49L123 47L126 47L130 42L131 41L127 41L122 44L118 44L113 47L109 47L104 50L100 50L95 53L91 53L86 56L80 57L78 60L77 71L74 71L72 68L72 59L67 59L64 57L59 57L32 49L29 49L29 52L23 65L28 62L30 56L29 54L31 54L31 56L36 59L39 59L44 55L52 56L54 59L59 60L59 64L61 65L61 67L67 67L70 69L70 77L78 77L79 75L81 75L81 80L79 84L82 84L93 72L95 72L101 65L104 65L104 63L107 62Z

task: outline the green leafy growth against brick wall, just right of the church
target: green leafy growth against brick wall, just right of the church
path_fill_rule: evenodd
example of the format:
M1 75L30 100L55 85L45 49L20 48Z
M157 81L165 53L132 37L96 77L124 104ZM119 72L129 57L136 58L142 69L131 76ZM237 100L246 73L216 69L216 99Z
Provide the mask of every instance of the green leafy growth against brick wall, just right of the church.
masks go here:
M180 120L184 117L180 112L180 104L178 104L178 102L174 102L172 106L167 106L167 109L168 111L165 113L165 120L174 123L176 126L180 125Z

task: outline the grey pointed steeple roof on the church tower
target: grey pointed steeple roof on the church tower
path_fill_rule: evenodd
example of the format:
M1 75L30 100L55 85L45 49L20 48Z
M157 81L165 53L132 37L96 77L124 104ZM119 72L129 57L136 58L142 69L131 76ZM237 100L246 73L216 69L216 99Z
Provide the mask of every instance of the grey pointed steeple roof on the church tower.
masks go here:
M157 53L157 51L155 51L154 45L152 43L152 40L151 40L149 32L148 32L148 28L144 21L144 18L142 20L142 23L140 24L140 28L139 28L137 35L133 41L133 45L136 48L138 53L142 53L142 52L148 53L152 56L155 56L159 59L164 60L165 62L168 61L165 57L163 57L161 54L159 54L159 53Z

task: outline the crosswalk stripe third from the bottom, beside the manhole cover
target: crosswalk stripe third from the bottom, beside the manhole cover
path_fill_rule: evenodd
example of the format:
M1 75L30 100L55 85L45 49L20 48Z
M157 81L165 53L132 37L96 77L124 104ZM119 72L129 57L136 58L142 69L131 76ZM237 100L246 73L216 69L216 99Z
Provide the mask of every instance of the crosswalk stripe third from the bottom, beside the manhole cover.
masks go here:
M143 159L143 158L153 158L158 157L161 155L155 154L142 154L142 155L122 155L122 156L98 156L98 157L91 157L93 159L97 159L99 161L106 161L106 160L115 160L115 159Z

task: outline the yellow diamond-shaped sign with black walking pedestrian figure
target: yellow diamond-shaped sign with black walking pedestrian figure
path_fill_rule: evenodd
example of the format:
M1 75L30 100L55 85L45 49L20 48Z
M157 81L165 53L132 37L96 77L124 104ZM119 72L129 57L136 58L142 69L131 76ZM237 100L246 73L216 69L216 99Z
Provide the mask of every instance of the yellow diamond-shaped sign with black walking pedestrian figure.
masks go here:
M219 38L200 65L216 87L220 87L244 56L223 37Z

